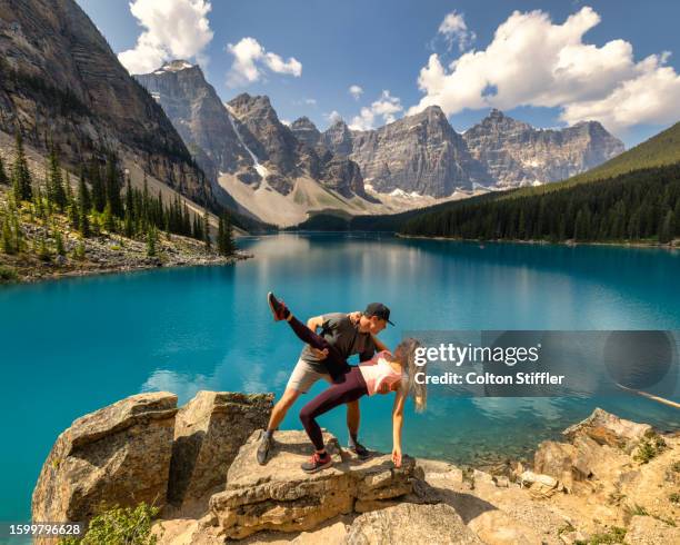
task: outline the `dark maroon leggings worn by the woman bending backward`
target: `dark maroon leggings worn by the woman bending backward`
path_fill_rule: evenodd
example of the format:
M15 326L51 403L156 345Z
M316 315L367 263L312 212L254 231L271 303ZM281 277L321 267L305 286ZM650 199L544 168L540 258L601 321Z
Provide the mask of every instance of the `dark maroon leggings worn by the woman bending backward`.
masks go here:
M314 444L314 448L321 450L323 449L323 434L316 418L339 405L356 402L361 396L367 395L368 389L359 367L349 365L347 359L328 340L317 335L294 316L288 320L288 324L304 343L319 350L328 349L328 356L323 363L333 378L333 384L300 410L300 420L304 426L307 435Z

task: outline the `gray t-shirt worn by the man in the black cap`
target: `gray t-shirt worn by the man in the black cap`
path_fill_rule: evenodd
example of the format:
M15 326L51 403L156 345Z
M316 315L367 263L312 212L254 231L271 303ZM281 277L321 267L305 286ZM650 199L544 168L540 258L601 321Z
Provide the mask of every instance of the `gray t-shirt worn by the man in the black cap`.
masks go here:
M370 333L360 333L359 326L342 313L324 314L322 316L321 335L332 346L334 346L344 359L354 354L359 354L360 361L366 361L376 354L376 345ZM323 359L317 358L309 345L304 345L300 359L307 361L319 373L328 373Z

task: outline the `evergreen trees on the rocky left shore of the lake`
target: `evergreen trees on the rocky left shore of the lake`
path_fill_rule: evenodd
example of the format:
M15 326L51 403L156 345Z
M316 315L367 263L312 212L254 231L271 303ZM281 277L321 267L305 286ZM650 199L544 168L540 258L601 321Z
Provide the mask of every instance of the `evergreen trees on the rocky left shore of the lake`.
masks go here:
M207 211L202 217L192 214L179 196L167 204L160 191L152 196L146 175L142 189L133 188L129 174L121 170L113 153L108 155L103 165L94 158L82 164L73 191L70 175L62 171L54 146L50 147L43 184L32 179L20 131L16 135L14 151L9 176L0 158L0 185L11 186L12 195L7 209L0 210L1 249L6 254L23 248L22 209L46 224L54 214L66 215L71 228L83 239L99 236L102 231L144 239L149 255L156 255L158 231L192 237L203 241L207 250L212 249ZM59 246L62 234L56 232L54 239ZM233 226L227 214L219 217L216 246L217 251L224 256L233 255L237 249ZM57 250L59 254L59 248Z

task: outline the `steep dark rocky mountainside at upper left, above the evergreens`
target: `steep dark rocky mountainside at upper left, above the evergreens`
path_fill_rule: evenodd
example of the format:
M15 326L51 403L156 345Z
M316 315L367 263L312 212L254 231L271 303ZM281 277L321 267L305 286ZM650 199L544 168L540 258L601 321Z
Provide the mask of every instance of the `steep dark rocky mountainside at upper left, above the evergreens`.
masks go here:
M108 149L197 202L213 200L159 105L72 0L0 0L0 130L73 164Z

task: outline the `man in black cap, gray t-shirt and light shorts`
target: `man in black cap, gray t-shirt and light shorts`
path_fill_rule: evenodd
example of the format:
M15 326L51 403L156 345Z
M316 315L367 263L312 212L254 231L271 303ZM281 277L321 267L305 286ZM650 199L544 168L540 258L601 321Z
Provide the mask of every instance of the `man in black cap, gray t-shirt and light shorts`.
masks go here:
M341 314L333 313L316 316L307 321L307 327L316 331L321 328L321 336L336 347L346 359L359 354L359 360L366 361L373 357L376 350L387 350L387 347L374 336L382 331L390 321L390 309L382 303L371 303L363 313ZM393 325L393 324L392 324ZM281 399L274 405L269 425L262 434L257 450L260 465L267 463L267 457L272 448L273 432L286 417L288 409L292 407L300 395L306 394L319 379L332 382L331 374L326 367L323 359L327 351L316 350L306 345L300 358L283 392ZM349 447L361 459L370 456L368 449L358 440L359 434L359 402L347 404L347 427L349 429Z

